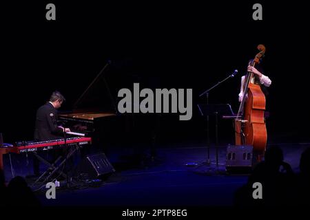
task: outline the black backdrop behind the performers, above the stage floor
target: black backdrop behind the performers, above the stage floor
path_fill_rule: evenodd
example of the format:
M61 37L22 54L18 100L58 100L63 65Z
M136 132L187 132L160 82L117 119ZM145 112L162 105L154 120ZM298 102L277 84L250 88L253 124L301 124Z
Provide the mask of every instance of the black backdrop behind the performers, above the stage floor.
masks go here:
M45 19L50 2L56 5L56 21ZM262 21L252 19L254 3L262 3ZM52 91L59 89L68 100L63 110L70 109L111 60L114 69L106 76L115 98L118 89L132 88L133 82L192 88L192 120L165 115L161 132L178 142L203 137L205 120L196 104L205 99L198 94L238 69L238 75L212 90L209 98L237 111L240 77L258 53L257 45L264 44L263 65L272 80L269 139L307 142L307 14L303 1L1 3L0 131L6 142L31 140L35 111ZM221 137L233 135L231 122L221 121L220 129Z

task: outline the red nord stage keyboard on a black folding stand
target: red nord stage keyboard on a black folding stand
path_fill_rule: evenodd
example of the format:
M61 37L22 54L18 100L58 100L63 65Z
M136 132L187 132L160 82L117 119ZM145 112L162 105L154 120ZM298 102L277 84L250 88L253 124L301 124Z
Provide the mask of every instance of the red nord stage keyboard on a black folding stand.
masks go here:
M65 147L67 145L72 144L92 144L92 137L70 137L66 139L59 140L49 140L45 142L19 142L18 146L12 146L12 153L25 153L32 151L45 151L50 150L52 148Z

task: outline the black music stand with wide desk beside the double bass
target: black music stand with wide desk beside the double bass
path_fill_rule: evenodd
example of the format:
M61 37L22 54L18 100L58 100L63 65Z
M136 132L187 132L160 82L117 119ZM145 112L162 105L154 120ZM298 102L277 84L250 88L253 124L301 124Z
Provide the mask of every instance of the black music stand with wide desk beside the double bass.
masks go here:
M215 115L215 135L216 135L216 168L218 168L218 116L233 116L234 111L232 111L230 104L198 104L198 109L202 116L209 117L210 115ZM209 143L209 133L208 133ZM209 144L207 146L207 165L210 164L209 156ZM222 165L222 164L221 164Z

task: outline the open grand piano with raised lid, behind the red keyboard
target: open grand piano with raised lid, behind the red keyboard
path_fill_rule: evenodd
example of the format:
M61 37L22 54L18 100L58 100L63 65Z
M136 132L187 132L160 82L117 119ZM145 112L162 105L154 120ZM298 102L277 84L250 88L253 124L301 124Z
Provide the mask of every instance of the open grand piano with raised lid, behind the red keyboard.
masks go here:
M92 137L92 144L99 148L116 144L126 131L126 115L119 115L114 95L106 80L112 71L111 62L107 62L92 83L74 102L70 111L60 112L58 122L71 131Z

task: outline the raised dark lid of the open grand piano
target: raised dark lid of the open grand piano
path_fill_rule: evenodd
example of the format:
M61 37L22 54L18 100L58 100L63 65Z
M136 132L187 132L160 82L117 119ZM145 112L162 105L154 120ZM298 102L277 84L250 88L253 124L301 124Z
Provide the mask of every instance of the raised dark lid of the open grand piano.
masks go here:
M110 72L111 61L107 61L103 69L99 74L92 80L92 83L83 91L83 94L74 102L73 111L85 113L90 115L70 115L68 117L74 118L85 118L88 120L93 120L93 118L105 116L105 113L116 113L116 104L112 92L110 90L109 84L107 83L106 76ZM97 113L97 115L96 115ZM98 115L99 113L99 115ZM65 115L65 114L61 114Z

